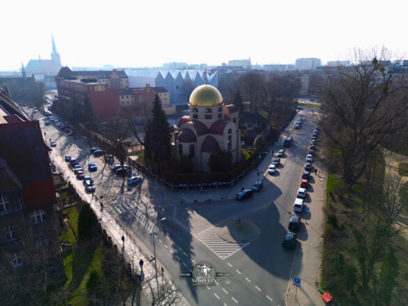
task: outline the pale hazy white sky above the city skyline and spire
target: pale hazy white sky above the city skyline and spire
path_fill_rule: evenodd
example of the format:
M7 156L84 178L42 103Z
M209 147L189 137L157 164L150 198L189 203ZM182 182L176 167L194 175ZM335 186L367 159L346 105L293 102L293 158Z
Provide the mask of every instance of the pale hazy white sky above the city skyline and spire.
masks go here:
M349 49L384 45L405 53L406 1L133 0L1 3L0 70L50 59L63 66L220 65L230 59L294 63L345 59Z

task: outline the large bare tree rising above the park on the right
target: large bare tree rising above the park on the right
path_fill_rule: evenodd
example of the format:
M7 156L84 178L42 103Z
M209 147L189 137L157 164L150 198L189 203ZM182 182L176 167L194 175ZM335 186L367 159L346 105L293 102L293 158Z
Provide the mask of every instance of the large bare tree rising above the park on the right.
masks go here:
M394 82L386 49L356 50L350 67L338 67L322 86L317 116L331 148L340 155L343 178L353 185L386 135L407 126L408 91Z

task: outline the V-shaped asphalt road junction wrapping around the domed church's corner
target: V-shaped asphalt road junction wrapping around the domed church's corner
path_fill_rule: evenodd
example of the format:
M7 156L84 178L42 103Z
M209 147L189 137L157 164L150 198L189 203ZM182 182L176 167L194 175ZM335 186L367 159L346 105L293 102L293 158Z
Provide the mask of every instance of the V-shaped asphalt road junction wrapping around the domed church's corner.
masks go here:
M96 194L98 197L103 196L104 206L121 218L121 222L126 224L146 250L152 249L151 236L129 213L130 209L137 208L153 222L162 217L167 218L159 224L162 232L158 233L156 240L156 254L158 261L165 267L165 273L170 275L191 305L284 305L294 251L282 249L281 243L287 231L289 216L294 213L293 203L313 128L311 114L304 111L302 115L305 119L302 128L291 132L294 143L285 149L285 158L281 158L282 164L277 173L265 176L263 190L245 201L226 199L196 204L150 201L149 194L157 194L162 188L149 178L144 178L142 184L128 190L126 178L113 174L103 158L90 157L86 141L68 137L53 125L44 126L43 120L40 123L46 133L45 139L56 141L53 154L72 155L80 160L84 169L87 169L88 162L96 162L98 171L91 174L96 182ZM270 161L271 153L259 166L259 171L266 171ZM72 176L73 172L66 175ZM255 181L256 174L252 173L248 177ZM306 199L308 206L312 206L315 192L313 181L314 178ZM80 180L75 187L84 189ZM235 191L236 188L233 188L232 194ZM303 220L310 220L312 216L304 212L302 217ZM219 249L211 244L216 239L211 233L214 225L229 218L250 220L259 227L260 234L245 247L221 258L217 254ZM308 239L305 226L301 228L299 237L297 250L301 250L303 242ZM223 247L224 244L220 243L220 249ZM218 277L217 286L191 286L189 277L177 276L177 273L195 269L195 265L202 262L210 263L213 270L229 273L229 276Z

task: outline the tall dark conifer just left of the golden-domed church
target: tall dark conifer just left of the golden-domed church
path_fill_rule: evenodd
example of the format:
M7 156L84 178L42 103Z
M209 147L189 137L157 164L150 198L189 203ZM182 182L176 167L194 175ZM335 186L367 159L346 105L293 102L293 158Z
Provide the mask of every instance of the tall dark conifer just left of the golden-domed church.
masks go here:
M148 167L160 175L165 163L169 162L172 151L169 123L157 94L151 112L152 118L149 119L145 128L144 160Z

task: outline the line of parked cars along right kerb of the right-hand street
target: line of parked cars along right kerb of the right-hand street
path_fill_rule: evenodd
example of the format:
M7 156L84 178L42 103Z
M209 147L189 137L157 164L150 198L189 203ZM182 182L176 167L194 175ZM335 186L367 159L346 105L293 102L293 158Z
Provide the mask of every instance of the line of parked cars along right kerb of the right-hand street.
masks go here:
M313 132L312 141L310 143L309 153L306 156L306 164L305 164L305 171L302 174L301 180L301 187L298 188L298 192L296 194L296 199L294 201L293 210L296 215L292 215L289 220L289 224L287 225L289 231L285 233L285 238L282 241L282 247L289 247L292 248L296 244L296 234L294 231L298 231L301 227L301 216L299 214L303 213L305 208L303 201L307 197L307 190L309 187L309 179L310 179L310 171L312 170L312 163L313 157L312 155L315 153L315 148L317 144L317 135L319 135L319 128L315 128Z

